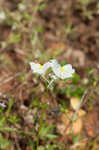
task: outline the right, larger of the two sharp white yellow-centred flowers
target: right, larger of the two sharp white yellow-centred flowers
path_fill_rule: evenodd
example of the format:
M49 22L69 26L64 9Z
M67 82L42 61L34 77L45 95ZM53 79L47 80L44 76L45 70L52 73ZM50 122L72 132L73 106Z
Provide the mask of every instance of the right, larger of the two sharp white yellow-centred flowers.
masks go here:
M61 79L66 79L72 77L72 74L75 72L74 69L72 69L72 65L67 64L61 67L60 64L58 64L57 60L53 59L50 61L51 67L54 72L54 74Z

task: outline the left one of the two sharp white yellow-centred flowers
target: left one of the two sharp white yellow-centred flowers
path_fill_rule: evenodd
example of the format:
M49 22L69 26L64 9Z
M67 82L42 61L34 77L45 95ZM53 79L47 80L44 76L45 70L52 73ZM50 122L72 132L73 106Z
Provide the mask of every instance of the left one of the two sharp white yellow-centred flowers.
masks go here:
M30 62L30 66L33 73L38 73L44 75L46 71L50 68L50 62L45 63L44 65Z

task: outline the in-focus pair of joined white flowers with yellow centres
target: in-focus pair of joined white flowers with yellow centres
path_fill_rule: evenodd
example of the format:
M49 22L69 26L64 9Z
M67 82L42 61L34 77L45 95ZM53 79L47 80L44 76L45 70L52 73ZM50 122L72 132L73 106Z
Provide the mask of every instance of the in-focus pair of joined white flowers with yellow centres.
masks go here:
M73 76L75 70L72 68L71 64L66 64L61 66L56 59L52 59L49 62L41 65L39 63L30 62L29 63L33 73L40 74L44 77L46 71L51 68L53 73L49 74L49 77L52 78L51 83L56 79L67 79Z

